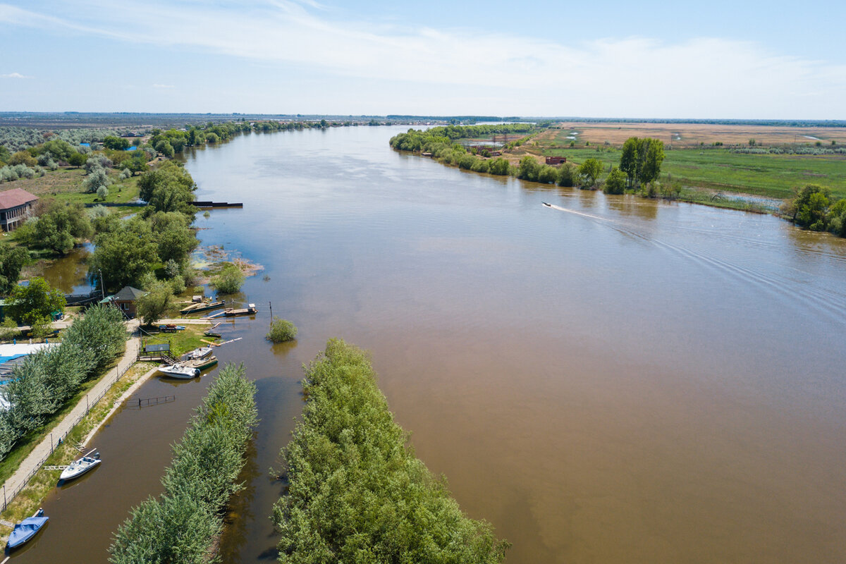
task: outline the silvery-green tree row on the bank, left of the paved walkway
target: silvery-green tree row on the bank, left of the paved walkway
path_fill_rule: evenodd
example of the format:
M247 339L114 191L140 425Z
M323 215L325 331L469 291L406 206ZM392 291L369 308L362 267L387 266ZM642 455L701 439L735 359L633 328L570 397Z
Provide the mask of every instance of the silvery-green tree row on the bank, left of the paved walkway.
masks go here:
M101 375L124 350L124 316L115 308L94 306L74 319L62 342L27 356L0 386L9 407L0 411L0 459L25 435L38 430L80 386Z

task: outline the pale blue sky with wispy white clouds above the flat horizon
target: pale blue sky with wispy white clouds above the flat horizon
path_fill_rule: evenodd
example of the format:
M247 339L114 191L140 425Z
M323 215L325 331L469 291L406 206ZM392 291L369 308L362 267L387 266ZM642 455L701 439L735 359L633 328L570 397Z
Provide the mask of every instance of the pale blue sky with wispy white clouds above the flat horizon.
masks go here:
M844 21L844 0L0 0L0 111L846 119Z

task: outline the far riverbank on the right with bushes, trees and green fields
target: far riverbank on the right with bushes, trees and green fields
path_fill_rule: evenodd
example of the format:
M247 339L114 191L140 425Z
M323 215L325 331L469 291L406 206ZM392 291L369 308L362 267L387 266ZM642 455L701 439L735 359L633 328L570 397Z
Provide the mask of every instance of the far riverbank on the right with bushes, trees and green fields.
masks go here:
M626 123L624 121L598 120L596 123L602 123L603 127L596 128L598 132L591 131L592 135L613 138L621 146L607 140L591 145L590 140L580 139L580 131L576 129L584 123L569 127L561 123L552 127L548 123L524 123L521 124L524 129L516 129L514 124L409 129L395 135L389 143L395 150L430 156L442 164L473 172L513 176L562 187L602 189L607 194L636 194L772 214L816 231L827 230L841 236L846 232L842 227L846 221L843 204L838 205L838 200L846 197L846 178L838 173L846 166L846 147L838 145L841 129L832 129L833 137L825 146L816 138L813 145L775 145L773 140L785 140L790 135L795 139L798 133L774 127L760 128L765 130L769 146L762 146L761 141L755 139L749 139L745 145L733 143L731 146L722 141L711 141L707 146L704 141L694 144L687 140L683 144L681 133L674 133L671 143L665 145L659 139L634 135L623 142L621 134L644 130L644 123L627 126L625 130L623 125L615 129L609 127ZM679 129L676 122L656 123L671 123L673 125L667 127ZM678 123L691 128L685 135L699 135L709 140L717 135L703 129L702 125ZM646 130L666 134L665 130L656 130L654 126ZM494 144L497 134L508 133L524 136ZM740 133L723 134L737 141ZM487 146L481 145L482 142ZM675 148L673 142L677 145ZM547 164L541 159L547 162L552 159L555 164ZM808 176L825 178L832 188L807 184ZM809 189L821 195L814 197L810 211L803 212L800 208L802 205L807 208L808 202L802 200L802 194ZM809 213L815 216L813 221L809 221Z

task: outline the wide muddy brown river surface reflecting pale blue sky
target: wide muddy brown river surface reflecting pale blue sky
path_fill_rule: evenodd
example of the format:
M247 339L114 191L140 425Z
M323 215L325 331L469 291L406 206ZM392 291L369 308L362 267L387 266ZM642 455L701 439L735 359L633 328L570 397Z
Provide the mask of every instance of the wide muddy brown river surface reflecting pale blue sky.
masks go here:
M187 156L204 244L265 266L244 362L261 424L222 539L272 561L268 468L330 337L372 353L417 455L509 563L846 561L846 241L770 216L559 189L392 151L403 128L250 134ZM541 205L551 203L552 207ZM263 338L274 315L297 342ZM106 561L216 374L152 380L15 561Z

